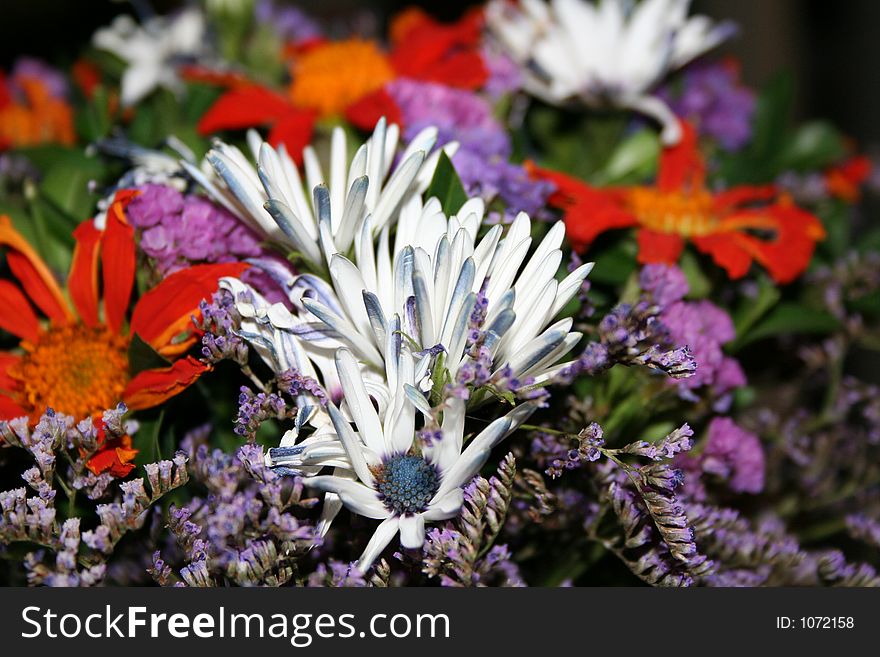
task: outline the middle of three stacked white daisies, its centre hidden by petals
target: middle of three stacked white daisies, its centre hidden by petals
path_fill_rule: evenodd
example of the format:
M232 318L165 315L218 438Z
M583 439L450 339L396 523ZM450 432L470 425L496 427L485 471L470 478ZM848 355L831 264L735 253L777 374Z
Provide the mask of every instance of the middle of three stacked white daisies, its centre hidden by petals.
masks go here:
M477 331L494 371L508 366L517 378L545 382L564 366L558 361L581 338L571 332L570 317L551 322L593 263L557 281L562 222L527 260L532 243L528 215L520 213L503 237L503 228L496 225L477 241L484 212L483 201L473 198L447 218L437 199L423 204L415 196L400 212L393 249L388 226L374 243L368 218L355 242L356 264L339 253L330 258L332 289L313 279L298 281L303 293L292 300L326 329L313 331L310 342L342 343L368 368L381 372L387 367L383 345L389 318L399 315L403 333L418 349L442 347L452 379L472 359L465 348Z

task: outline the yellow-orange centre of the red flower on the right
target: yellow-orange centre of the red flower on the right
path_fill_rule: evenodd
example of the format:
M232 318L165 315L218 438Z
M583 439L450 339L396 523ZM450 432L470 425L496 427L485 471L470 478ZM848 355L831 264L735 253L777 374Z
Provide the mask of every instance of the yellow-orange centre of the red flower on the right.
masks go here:
M712 195L703 189L661 192L636 187L630 190L627 201L639 223L658 233L676 233L682 237L707 235L717 223Z

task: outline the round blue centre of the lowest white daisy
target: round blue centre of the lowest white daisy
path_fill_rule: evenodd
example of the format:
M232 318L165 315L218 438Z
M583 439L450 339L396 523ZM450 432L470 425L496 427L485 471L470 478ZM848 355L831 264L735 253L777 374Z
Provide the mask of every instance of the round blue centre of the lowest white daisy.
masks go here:
M437 468L421 456L392 456L373 477L379 498L397 515L424 511L440 487Z

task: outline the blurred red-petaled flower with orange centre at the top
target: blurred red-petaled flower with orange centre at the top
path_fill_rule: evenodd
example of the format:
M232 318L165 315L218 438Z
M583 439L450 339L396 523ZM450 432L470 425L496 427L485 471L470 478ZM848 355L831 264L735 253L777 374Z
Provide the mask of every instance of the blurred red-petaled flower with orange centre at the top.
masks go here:
M467 89L486 81L482 23L481 11L443 24L411 9L392 22L388 53L363 39L310 42L294 53L286 96L239 78L190 70L190 79L228 87L202 116L198 130L209 135L271 126L269 143L284 143L299 158L321 117L344 115L367 129L383 115L400 123L400 111L384 91L391 80L407 77Z

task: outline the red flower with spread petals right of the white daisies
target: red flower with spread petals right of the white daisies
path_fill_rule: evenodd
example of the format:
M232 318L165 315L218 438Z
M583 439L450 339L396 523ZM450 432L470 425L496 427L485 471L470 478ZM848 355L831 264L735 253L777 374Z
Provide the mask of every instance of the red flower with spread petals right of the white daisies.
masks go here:
M565 210L566 235L584 250L607 230L638 227L640 263L675 263L685 240L712 257L730 278L745 276L753 262L778 283L806 269L822 223L774 186L741 186L713 193L696 133L683 125L678 145L666 148L653 186L597 189L564 174L532 171L554 182L550 203Z

